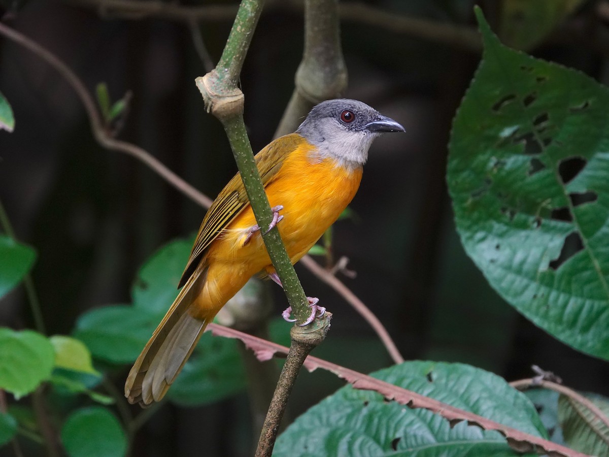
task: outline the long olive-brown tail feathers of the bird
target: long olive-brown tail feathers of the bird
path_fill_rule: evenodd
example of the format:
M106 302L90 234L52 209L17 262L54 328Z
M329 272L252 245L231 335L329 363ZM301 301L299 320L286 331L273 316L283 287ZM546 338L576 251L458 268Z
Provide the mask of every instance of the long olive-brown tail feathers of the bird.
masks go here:
M191 276L133 364L125 383L125 397L130 403L148 406L160 401L213 320L215 311L204 320L189 313L205 277L206 269Z

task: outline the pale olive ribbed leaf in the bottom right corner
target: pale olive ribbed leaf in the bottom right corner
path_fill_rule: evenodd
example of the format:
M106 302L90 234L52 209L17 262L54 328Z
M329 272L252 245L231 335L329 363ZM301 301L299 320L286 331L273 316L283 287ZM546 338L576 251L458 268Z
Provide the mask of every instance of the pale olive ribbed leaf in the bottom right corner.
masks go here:
M609 399L596 394L585 394L604 414L596 414L566 395L558 398L558 420L567 445L589 455L607 455L609 450Z

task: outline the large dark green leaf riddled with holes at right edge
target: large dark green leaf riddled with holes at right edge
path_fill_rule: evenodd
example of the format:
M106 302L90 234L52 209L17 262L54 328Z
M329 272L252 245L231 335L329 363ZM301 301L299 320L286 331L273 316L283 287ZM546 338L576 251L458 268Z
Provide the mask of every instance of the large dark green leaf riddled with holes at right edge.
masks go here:
M448 187L463 246L539 327L609 359L609 90L499 43L452 125Z

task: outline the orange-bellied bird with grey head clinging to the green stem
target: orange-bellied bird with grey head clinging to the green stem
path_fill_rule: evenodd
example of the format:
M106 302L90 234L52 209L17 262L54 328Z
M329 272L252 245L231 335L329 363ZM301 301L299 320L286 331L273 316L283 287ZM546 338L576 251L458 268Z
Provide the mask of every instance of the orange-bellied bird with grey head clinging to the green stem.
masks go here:
M300 260L356 194L373 140L404 127L361 101L333 99L312 108L294 133L255 155L277 227L292 264ZM163 399L216 313L255 274L281 285L262 230L237 173L205 214L174 303L133 364L125 383L130 403ZM314 321L325 311L308 297ZM290 308L283 312L289 319Z

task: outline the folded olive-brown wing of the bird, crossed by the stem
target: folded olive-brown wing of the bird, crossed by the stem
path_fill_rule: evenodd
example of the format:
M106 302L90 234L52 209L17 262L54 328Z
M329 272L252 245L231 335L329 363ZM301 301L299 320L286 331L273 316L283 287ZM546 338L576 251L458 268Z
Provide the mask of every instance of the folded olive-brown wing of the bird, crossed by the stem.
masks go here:
M290 135L281 136L272 141L256 154L256 166L258 166L258 172L265 187L272 182L273 177L283 165L284 159L303 141L306 140L302 136L297 133L290 133ZM178 288L188 281L209 244L249 205L250 202L245 193L241 175L237 173L218 194L205 214Z

